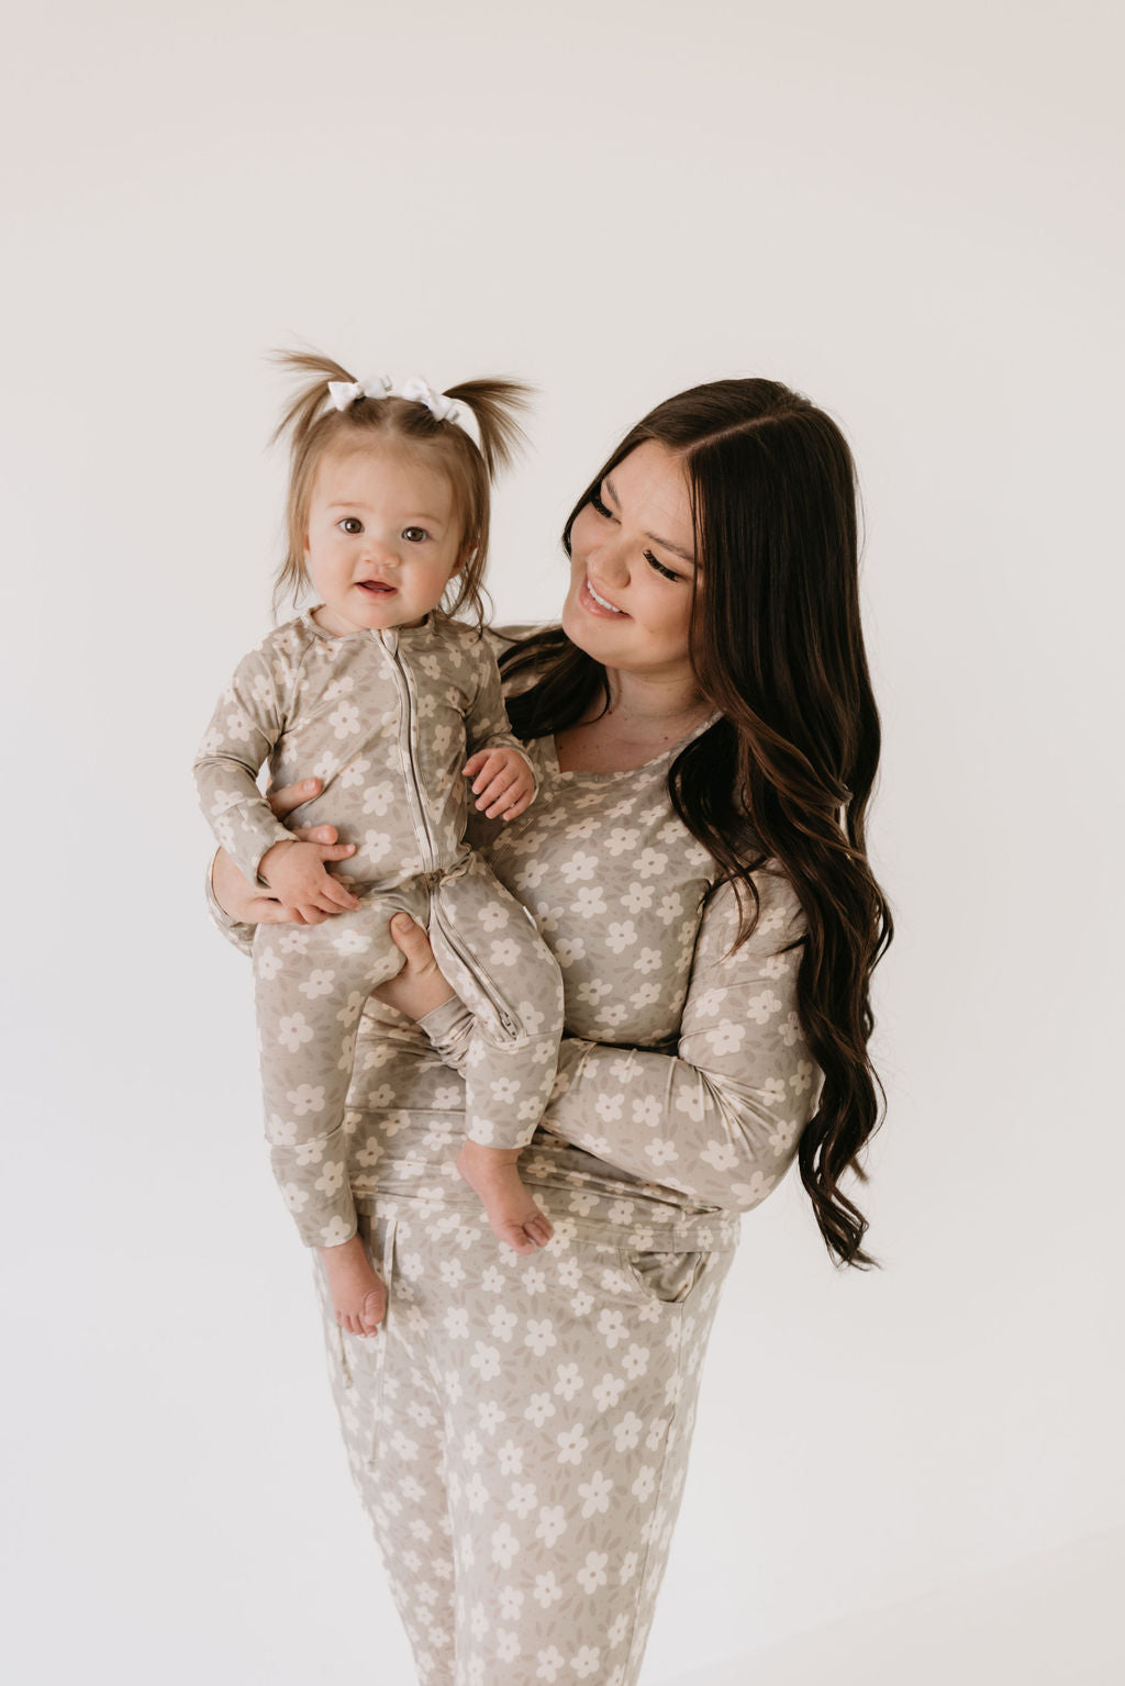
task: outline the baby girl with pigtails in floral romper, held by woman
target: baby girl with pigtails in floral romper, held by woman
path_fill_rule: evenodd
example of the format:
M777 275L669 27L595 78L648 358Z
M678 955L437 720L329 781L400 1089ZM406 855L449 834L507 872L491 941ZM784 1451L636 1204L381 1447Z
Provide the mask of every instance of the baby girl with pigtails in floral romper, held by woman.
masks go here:
M536 794L481 607L489 487L519 437L526 388L481 379L435 393L413 379L395 393L315 354L283 361L312 381L277 430L292 442L278 593L312 587L319 604L240 663L196 789L246 877L310 921L255 934L266 1138L337 1322L371 1334L386 1290L356 1234L344 1099L364 1001L403 964L395 912L428 929L476 1013L457 1170L501 1241L531 1253L552 1238L516 1162L555 1077L562 980L530 914L466 845L467 779L489 818L513 819ZM476 627L452 619L462 607ZM275 786L324 782L293 823L337 826L353 853L332 872L326 845L273 816L263 762Z

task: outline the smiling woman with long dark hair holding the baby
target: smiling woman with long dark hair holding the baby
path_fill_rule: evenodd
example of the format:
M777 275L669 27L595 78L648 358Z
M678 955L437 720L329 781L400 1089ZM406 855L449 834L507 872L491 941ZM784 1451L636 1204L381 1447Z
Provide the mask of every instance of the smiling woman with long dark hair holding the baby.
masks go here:
M501 1251L455 1175L467 1015L398 915L406 966L349 1098L379 1339L322 1293L423 1686L632 1686L739 1212L796 1157L833 1258L874 1263L838 1189L877 1123L891 937L864 856L879 720L848 448L778 383L693 388L622 440L563 545L562 629L501 661L540 797L476 836L563 969L560 1076L521 1158L555 1238ZM233 921L290 917L221 856L214 889Z

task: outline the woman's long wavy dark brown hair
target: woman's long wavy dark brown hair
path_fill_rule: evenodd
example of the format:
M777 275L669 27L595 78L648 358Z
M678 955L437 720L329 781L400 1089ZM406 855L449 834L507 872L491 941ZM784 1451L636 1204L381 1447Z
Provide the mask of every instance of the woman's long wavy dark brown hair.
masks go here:
M880 1123L870 975L894 924L865 853L880 733L852 452L835 422L778 381L695 386L626 435L570 513L567 555L579 511L646 440L676 452L688 475L700 580L692 661L722 715L675 759L670 796L720 867L713 889L732 882L739 894L735 948L757 921L757 868L774 858L796 889L806 922L798 1017L823 1072L798 1145L801 1182L833 1259L872 1266L867 1219L840 1180L867 1180L859 1155ZM560 629L525 639L501 668L536 673L509 703L523 738L565 730L599 698L609 705L606 669Z

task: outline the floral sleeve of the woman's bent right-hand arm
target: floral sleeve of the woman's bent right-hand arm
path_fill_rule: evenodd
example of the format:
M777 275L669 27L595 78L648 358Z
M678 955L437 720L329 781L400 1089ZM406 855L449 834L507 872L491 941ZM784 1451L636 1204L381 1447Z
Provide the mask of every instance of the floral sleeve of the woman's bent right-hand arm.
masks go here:
M735 892L724 885L700 926L675 1054L563 1040L543 1128L644 1182L700 1205L751 1211L778 1185L811 1118L820 1074L796 1015L805 929L789 880L754 875L757 927L737 953ZM466 1012L427 1015L435 1050L455 1064Z

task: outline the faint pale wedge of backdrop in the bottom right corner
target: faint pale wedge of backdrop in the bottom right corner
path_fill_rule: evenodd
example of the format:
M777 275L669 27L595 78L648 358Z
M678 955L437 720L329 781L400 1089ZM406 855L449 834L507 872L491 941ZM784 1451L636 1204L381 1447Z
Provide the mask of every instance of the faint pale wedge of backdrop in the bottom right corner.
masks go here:
M651 1686L1120 1686L1125 1531Z

